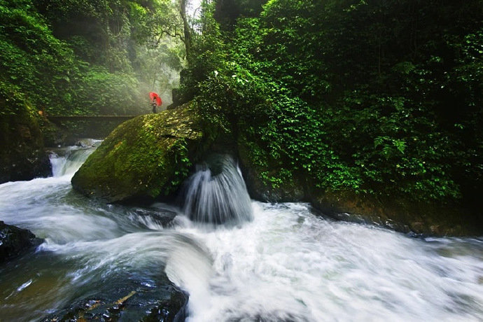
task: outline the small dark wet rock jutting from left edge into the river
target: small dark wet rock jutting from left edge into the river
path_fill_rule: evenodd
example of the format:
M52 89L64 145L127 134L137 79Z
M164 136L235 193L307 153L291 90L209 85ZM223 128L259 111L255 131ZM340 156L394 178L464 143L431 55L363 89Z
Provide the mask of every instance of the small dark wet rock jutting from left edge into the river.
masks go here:
M21 255L41 242L29 230L0 221L0 262Z

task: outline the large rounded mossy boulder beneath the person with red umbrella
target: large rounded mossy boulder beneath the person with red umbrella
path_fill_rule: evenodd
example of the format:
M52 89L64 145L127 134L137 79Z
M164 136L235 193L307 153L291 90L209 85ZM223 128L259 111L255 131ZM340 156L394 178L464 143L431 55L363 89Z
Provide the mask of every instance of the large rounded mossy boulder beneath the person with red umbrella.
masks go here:
M205 150L190 104L119 125L80 167L72 186L106 202L169 195Z

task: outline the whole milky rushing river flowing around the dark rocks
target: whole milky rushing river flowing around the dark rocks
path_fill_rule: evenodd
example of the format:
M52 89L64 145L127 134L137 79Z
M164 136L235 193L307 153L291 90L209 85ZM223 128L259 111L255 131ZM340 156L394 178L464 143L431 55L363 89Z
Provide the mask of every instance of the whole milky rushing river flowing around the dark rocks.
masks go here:
M189 294L188 321L483 320L483 239L414 238L303 203L251 201L235 225L104 205L71 189L91 152L71 147L52 177L0 185L0 220L45 239L0 265L0 321L50 316L115 276L157 288L163 270Z

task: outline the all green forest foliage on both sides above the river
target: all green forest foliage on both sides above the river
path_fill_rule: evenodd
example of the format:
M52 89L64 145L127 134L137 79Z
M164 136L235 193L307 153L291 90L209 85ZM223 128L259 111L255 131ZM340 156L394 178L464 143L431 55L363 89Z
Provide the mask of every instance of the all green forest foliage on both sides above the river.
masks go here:
M186 66L176 104L265 187L476 209L482 0L188 2L0 0L0 114L146 113Z

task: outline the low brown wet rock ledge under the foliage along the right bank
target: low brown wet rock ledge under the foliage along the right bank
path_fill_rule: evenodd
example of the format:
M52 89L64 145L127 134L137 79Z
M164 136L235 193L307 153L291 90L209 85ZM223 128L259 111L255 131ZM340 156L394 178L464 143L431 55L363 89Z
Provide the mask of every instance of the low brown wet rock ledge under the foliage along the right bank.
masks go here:
M479 236L482 221L458 205L376 199L347 191L309 189L309 202L337 220L368 223L398 232L426 236ZM462 216L465 214L465 216Z

